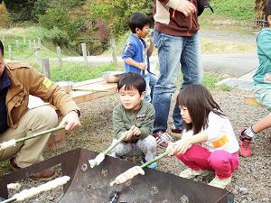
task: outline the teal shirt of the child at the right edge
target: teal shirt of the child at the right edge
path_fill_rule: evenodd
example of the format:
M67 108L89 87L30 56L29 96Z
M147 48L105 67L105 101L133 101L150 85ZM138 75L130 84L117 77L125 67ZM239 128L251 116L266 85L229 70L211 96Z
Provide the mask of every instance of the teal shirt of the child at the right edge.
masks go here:
M271 85L271 29L263 29L257 34L257 56L259 66L253 76L254 85ZM267 74L266 74L267 73Z

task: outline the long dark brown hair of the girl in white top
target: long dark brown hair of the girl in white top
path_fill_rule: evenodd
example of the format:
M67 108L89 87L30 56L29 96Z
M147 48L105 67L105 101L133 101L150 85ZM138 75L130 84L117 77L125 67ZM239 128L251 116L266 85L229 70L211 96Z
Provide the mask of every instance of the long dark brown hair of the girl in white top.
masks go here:
M216 115L223 115L220 106L215 102L207 88L201 85L189 85L183 88L177 97L179 106L187 107L192 118L191 124L184 122L184 128L198 134L208 124L208 115L212 111ZM225 116L225 115L224 115Z

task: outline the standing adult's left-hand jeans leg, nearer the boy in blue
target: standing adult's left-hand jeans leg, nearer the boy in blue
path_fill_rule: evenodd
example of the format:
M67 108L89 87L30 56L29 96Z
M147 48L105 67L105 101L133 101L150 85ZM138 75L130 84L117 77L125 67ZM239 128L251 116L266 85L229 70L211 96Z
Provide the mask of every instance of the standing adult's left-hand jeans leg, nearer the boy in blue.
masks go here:
M155 34L155 47L158 49L160 77L154 87L153 105L154 133L166 131L171 99L176 90L179 74L182 37L170 36L161 32Z

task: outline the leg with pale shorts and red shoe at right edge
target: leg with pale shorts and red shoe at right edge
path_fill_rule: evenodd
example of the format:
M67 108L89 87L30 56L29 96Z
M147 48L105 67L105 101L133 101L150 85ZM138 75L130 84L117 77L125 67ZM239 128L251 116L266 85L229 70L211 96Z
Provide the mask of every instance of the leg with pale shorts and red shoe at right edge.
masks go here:
M271 112L271 87L257 85L253 88L253 92L257 102L265 106L266 109ZM241 132L239 135L239 152L242 156L248 157L251 155L252 138L268 127L271 127L271 113Z

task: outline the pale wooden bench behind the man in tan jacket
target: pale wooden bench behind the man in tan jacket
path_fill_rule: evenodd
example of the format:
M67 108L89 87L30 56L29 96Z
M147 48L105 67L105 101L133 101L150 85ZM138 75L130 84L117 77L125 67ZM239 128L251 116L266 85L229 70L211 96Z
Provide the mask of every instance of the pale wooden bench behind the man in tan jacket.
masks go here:
M117 83L107 83L103 78L94 78L73 84L70 91L70 97L77 104L81 104L99 97L105 97L115 94L116 92L117 92ZM38 105L37 103L38 100L36 100L35 102L36 102L35 105ZM43 105L46 104L43 103ZM59 122L61 122L63 116L60 114L59 111L57 111L57 114L59 115ZM58 132L51 134L51 138L48 142L48 148L57 149L65 145L66 145L65 130L60 130Z

